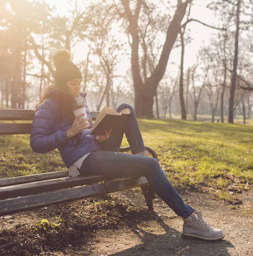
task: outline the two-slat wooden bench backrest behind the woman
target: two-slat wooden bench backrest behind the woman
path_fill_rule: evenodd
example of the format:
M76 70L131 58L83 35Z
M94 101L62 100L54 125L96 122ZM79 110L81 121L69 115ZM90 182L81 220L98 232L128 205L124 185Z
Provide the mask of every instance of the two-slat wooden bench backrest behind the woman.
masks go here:
M100 111L91 111L92 120L95 120ZM0 109L0 121L33 120L35 110L30 109ZM30 134L32 123L0 124L0 135Z

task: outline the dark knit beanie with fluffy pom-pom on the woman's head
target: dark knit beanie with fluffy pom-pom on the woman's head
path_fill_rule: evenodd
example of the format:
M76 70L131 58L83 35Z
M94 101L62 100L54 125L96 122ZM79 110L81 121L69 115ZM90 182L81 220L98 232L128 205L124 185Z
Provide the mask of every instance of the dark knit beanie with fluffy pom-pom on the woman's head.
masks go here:
M60 49L53 55L55 71L55 84L61 85L69 80L82 79L80 69L70 61L71 54L67 49Z

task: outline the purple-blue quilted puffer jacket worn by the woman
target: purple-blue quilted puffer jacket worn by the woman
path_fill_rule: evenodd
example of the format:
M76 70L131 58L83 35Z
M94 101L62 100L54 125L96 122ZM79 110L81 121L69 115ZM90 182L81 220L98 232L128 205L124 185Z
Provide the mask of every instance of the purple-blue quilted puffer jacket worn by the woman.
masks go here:
M52 90L50 96L55 93ZM85 98L86 93L80 92L80 95ZM92 128L91 114L86 103L85 107ZM68 139L67 130L72 124L73 122L68 117L61 117L52 97L46 99L38 106L33 116L30 136L32 150L36 153L46 153L57 148L64 164L69 168L83 155L101 148L100 144L95 141L95 136L90 135L91 128L79 132L80 139L78 135Z

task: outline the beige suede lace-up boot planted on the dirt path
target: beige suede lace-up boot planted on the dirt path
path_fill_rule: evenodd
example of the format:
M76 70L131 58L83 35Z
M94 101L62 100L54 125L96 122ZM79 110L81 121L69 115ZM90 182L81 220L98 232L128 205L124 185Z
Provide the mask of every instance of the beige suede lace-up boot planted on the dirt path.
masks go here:
M184 220L182 237L186 239L202 239L206 241L217 241L224 238L224 233L221 229L210 227L202 217L202 209L200 208L195 215Z

